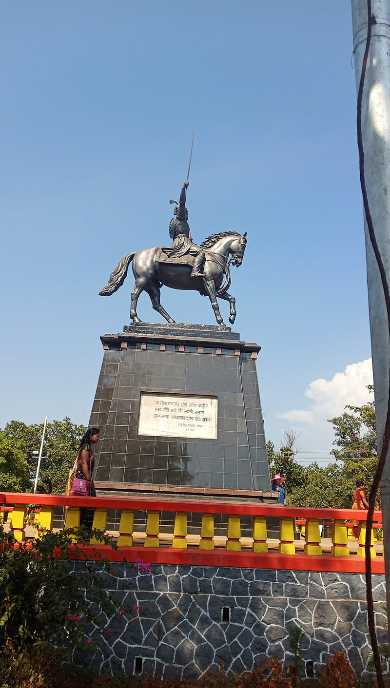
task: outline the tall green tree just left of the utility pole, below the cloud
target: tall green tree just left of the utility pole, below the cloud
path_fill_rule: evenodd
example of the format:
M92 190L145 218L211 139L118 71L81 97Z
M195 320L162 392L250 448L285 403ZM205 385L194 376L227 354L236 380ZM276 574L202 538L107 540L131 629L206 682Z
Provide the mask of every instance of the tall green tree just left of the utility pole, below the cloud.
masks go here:
M367 385L373 392L373 385ZM377 456L375 405L373 401L362 406L347 405L341 416L330 418L334 427L336 440L333 444L339 449L332 449L336 459L372 458Z

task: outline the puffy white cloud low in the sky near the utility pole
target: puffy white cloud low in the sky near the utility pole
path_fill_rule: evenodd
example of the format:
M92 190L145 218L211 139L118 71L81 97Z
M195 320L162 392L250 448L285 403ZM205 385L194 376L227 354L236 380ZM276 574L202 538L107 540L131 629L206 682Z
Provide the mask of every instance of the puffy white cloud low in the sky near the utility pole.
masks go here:
M277 416L299 424L323 424L327 418L340 416L347 404L361 406L370 399L373 400L367 389L367 385L372 383L371 358L351 363L343 373L336 373L332 380L318 378L310 383L305 391L305 396L313 401L309 409L291 409L285 413L277 413Z

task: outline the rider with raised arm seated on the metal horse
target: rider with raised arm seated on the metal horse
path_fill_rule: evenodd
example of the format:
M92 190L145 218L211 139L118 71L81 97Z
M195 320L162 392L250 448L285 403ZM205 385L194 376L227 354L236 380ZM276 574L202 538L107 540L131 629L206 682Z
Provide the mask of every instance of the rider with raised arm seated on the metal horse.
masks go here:
M188 225L188 211L186 208L186 189L188 189L188 180L184 182L182 193L180 193L180 202L176 204L173 214L175 217L171 219L169 224L169 236L173 239L173 243L169 247L162 246L162 250L170 258L175 256L181 257L184 255L191 255L195 257L193 262L193 270L191 277L204 277L202 267L204 265L204 250L193 244L190 227ZM171 203L176 203L171 201Z

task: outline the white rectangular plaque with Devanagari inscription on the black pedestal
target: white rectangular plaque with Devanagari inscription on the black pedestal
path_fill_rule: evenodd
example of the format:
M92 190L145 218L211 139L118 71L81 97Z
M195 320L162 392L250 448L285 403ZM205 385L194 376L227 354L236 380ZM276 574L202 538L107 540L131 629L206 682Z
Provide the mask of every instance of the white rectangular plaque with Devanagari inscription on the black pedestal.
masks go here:
M218 398L141 392L138 435L217 439Z

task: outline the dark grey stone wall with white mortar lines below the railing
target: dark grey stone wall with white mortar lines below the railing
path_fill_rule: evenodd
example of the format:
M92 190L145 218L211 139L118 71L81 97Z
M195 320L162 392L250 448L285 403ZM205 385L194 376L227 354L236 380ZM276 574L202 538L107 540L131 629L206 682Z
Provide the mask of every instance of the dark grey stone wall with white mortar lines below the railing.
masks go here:
M198 678L221 664L225 671L247 672L271 655L286 667L294 625L305 633L304 660L317 673L338 650L345 650L358 674L367 668L362 574L155 564L151 574L139 574L129 563L114 566L118 579L103 574L107 590L144 611L131 619L102 619L107 632L93 659L101 669ZM384 576L373 575L373 595L382 627ZM96 629L90 631L93 637ZM379 630L378 639L387 642L387 633Z

